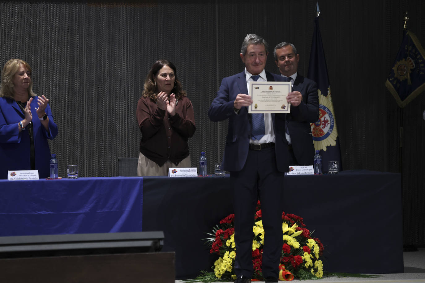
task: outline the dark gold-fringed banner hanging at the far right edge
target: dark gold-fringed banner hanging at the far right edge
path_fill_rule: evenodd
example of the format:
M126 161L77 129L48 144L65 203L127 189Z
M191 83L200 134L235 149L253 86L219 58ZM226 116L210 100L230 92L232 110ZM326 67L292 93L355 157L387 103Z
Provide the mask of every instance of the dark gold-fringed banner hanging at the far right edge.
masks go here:
M385 86L400 107L425 90L425 52L419 40L404 30L403 41Z

